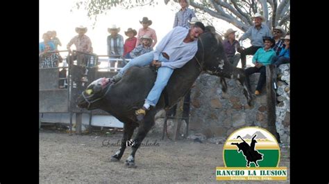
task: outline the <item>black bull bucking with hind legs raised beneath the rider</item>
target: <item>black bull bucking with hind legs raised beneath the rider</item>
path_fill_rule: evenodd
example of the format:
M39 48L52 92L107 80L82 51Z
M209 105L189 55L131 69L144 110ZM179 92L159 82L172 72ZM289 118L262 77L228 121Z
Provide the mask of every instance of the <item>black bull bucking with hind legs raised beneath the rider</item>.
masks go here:
M124 136L121 140L121 148L111 160L120 160L126 149L126 141L133 136L133 131L139 127L135 136L132 152L126 160L126 165L135 166L135 153L140 143L145 138L151 127L153 127L155 114L161 109L168 110L173 107L187 91L192 87L196 78L202 71L217 75L219 77L235 78L244 86L244 95L247 101L251 102L251 93L246 85L244 71L241 68L232 66L223 50L223 44L217 39L216 33L210 31L199 37L198 51L185 66L175 69L174 73L162 91L162 95L156 107L151 108L142 122L137 122L135 110L142 107L144 99L155 82L156 74L148 66L129 68L122 80L116 84L110 84L104 89L91 84L87 89L93 92L87 95L86 91L78 97L78 107L86 109L102 109L124 122Z

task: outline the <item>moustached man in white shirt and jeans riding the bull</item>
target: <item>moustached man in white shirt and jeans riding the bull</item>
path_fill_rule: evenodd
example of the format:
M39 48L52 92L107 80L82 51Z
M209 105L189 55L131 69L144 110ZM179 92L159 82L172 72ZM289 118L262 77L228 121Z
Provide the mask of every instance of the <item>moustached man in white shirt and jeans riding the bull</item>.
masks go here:
M172 29L158 44L154 51L135 57L112 77L117 82L131 66L147 66L149 64L158 68L155 83L147 96L141 109L135 111L137 120L142 120L149 108L158 103L162 90L167 85L174 69L183 67L194 57L198 50L198 37L205 30L201 22L196 22L192 28L177 26Z

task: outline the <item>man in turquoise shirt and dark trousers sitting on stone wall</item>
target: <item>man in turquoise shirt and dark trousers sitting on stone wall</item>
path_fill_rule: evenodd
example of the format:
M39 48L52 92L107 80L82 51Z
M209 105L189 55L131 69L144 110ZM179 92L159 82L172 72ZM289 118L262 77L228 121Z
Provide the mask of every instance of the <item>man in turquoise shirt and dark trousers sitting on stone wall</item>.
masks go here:
M248 87L250 89L249 75L253 73L260 73L260 79L255 90L255 95L260 95L262 91L262 86L266 82L266 66L271 64L271 59L276 56L276 52L273 50L274 44L276 41L271 37L264 37L264 47L259 48L255 55L253 55L253 64L254 67L246 68L244 73L246 73L246 80Z

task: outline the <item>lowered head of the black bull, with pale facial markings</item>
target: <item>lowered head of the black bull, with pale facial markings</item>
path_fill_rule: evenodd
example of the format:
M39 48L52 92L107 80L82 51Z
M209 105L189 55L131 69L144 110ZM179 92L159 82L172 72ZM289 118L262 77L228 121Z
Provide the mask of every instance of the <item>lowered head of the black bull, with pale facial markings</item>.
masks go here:
M109 79L100 78L90 83L87 89L81 93L76 99L76 104L80 108L87 110L99 109L103 98L106 98L106 93L110 89Z

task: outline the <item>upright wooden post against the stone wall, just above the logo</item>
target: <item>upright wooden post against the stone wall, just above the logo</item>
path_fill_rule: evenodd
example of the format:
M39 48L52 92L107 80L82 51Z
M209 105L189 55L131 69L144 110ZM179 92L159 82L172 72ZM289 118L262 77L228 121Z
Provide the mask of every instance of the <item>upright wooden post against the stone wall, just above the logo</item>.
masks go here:
M266 66L266 87L267 87L267 125L268 129L278 140L276 132L276 66ZM280 142L280 140L278 140Z

